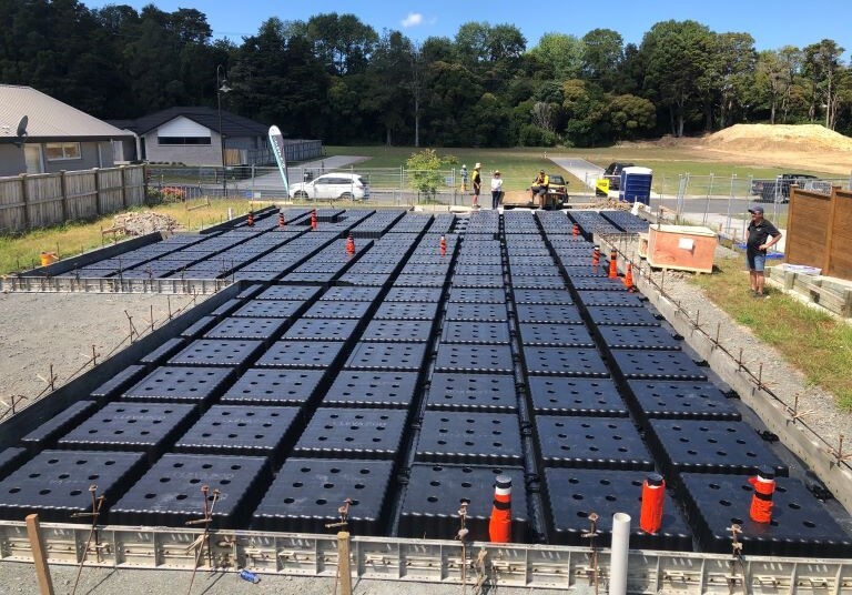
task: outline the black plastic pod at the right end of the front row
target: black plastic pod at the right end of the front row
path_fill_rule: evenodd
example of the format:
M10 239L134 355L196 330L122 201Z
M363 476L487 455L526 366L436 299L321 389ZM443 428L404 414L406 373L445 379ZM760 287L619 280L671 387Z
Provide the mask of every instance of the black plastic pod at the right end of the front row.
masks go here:
M772 521L749 516L754 488L748 477L684 473L684 505L706 551L730 553L737 523L746 555L851 557L852 538L801 482L775 478Z

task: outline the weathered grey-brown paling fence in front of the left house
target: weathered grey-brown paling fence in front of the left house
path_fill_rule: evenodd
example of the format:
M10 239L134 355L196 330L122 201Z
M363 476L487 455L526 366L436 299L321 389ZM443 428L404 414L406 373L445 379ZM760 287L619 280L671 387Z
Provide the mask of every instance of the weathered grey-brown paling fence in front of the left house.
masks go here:
M91 219L144 201L144 165L0 178L0 232Z

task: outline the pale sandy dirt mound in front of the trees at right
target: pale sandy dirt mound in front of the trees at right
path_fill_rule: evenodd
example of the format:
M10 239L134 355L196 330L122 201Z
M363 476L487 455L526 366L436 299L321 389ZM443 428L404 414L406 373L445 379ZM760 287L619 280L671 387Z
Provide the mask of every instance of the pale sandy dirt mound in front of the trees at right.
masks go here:
M820 124L734 124L703 144L722 151L852 151L852 139Z

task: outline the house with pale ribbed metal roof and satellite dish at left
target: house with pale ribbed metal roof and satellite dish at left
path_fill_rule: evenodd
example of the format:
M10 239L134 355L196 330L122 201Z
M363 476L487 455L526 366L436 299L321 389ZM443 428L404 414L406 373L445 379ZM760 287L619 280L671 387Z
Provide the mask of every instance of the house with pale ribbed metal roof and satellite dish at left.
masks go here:
M111 168L132 137L31 87L0 84L0 177Z

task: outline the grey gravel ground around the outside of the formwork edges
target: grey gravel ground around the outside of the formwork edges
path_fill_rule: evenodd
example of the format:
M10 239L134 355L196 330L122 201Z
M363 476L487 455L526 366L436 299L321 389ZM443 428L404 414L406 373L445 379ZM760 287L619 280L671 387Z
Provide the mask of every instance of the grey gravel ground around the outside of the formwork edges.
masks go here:
M723 250L723 249L720 249ZM721 253L721 252L720 252ZM655 273L659 282L660 274ZM700 311L702 326L714 334L717 326L722 345L731 353L742 347L747 365L754 370L763 363L763 377L785 403L792 405L800 396L800 409L810 411L807 422L832 444L843 433L852 435L852 415L841 413L833 405L833 397L813 386L807 386L802 375L788 366L770 346L761 344L730 316L714 309L686 275L667 273L665 291L679 302L692 316ZM185 306L191 299L171 296L171 310ZM772 298L763 302L771 315ZM72 372L84 366L91 356L92 344L101 356L112 351L129 334L125 311L133 316L138 330L145 321L150 324L151 309L154 319L168 316L169 303L163 295L114 295L114 294L3 294L0 295L0 399L23 394L33 396L41 392L48 377L49 365L58 383ZM753 364L753 365L752 365ZM1 411L1 410L0 410ZM75 568L52 568L57 593L70 593ZM158 594L185 592L189 588L189 573L170 571L130 571L85 568L77 593L109 595L118 593ZM241 581L234 574L199 573L192 593L195 594L242 594L242 593L298 593L302 595L332 593L331 578L302 578L287 576L264 576L257 585ZM468 592L470 592L468 587ZM499 587L500 594L541 592L540 589ZM0 563L0 593L38 593L32 566L28 564ZM375 595L407 594L458 594L460 585L424 585L412 583L388 583L362 581L355 593Z

